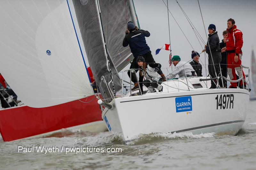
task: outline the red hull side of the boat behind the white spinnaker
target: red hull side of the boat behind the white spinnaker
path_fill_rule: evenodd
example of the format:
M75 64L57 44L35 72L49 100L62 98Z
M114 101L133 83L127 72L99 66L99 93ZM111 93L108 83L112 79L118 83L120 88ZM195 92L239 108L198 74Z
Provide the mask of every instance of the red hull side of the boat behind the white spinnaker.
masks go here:
M102 120L94 95L81 101L44 108L18 106L0 109L0 132L3 140L12 141Z

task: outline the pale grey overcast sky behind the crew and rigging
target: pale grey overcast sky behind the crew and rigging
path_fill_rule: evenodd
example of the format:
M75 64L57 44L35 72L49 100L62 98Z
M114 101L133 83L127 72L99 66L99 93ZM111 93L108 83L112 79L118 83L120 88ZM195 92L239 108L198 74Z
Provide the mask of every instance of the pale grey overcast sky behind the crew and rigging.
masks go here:
M169 67L169 51L161 50L158 55L155 55L156 49L162 45L169 44L169 32L168 32L168 16L167 8L162 0L133 0L135 10L139 19L140 28L148 30L150 37L146 38L148 46L152 51L152 55L157 63L162 64L162 68ZM165 4L167 3L164 0ZM234 1L234 0L214 0L206 1L199 0L202 10L205 29L207 31L207 37L205 35L204 26L198 6L197 0L178 0L183 10L188 15L191 22L194 24L204 41L207 41L208 26L209 24L215 24L216 30L220 41L223 39L222 31L227 28L228 18L233 18L236 21L237 28L243 32L244 45L242 48L243 58L242 64L251 66L251 53L252 49L255 49L255 31L256 23L256 1ZM188 37L188 40L199 53L202 51L196 35L189 25L184 14L180 10L175 0L168 0L169 10L172 12L174 18L177 20L183 32ZM189 45L185 36L182 34L180 28L169 13L170 32L171 32L171 49L172 56L180 55L181 60L188 61L191 59L191 51L193 48ZM254 50L255 51L255 50ZM204 53L200 55L200 60L204 64ZM206 59L206 64L208 61ZM130 66L130 65L129 65ZM163 70L164 71L164 70ZM247 70L245 71L247 73ZM205 68L203 66L203 75L205 75Z

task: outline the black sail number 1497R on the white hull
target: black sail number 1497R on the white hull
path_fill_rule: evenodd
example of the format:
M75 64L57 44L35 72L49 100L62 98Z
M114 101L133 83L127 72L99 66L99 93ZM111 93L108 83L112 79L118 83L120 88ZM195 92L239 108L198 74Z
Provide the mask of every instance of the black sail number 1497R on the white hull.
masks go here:
M217 100L217 109L228 109L234 107L234 94L221 94L220 96L217 95L215 99Z

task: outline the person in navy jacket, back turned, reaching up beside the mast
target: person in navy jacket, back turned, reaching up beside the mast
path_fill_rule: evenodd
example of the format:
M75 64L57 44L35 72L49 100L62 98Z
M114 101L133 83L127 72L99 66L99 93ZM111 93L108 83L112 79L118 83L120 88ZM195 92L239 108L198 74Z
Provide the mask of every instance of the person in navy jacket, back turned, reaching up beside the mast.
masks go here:
M150 36L150 33L145 30L139 30L139 28L137 26L135 27L131 21L127 23L127 28L128 30L125 31L126 35L124 37L123 47L127 47L128 45L130 46L132 54L134 56L130 69L135 69L135 72L137 72L138 70L136 69L138 69L138 64L136 63L136 59L138 56L143 56L147 63L155 63L155 60L151 54L150 48L148 47L148 44L145 39L145 37ZM128 76L130 77L130 71L128 71L127 73L128 73ZM161 69L159 69L157 73L162 77L163 81L166 80ZM134 87L132 88L132 91L138 90L139 85L136 80L136 74L132 73L132 77L130 78L134 83Z

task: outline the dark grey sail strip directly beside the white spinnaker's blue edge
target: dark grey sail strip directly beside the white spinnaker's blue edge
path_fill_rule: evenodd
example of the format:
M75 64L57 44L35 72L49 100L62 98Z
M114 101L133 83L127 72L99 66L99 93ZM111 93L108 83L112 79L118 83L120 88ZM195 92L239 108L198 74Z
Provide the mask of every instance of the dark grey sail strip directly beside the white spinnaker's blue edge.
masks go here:
M100 19L96 3L97 1L73 0L76 18L84 42L84 48L89 65L97 85L100 85L101 76L105 77L107 83L111 82L112 78L109 74L108 59L104 50L105 47L102 39ZM114 64L111 60L109 62L113 72L112 76L115 90L118 91L122 87L121 80L117 74ZM111 98L111 95L108 94L107 87L101 86L100 91L104 99Z

